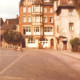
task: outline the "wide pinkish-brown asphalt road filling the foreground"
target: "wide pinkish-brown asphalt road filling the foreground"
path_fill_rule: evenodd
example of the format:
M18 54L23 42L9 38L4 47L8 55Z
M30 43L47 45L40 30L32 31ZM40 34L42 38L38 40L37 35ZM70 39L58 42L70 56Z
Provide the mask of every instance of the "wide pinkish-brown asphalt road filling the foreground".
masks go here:
M52 50L1 50L0 80L80 80L80 60Z

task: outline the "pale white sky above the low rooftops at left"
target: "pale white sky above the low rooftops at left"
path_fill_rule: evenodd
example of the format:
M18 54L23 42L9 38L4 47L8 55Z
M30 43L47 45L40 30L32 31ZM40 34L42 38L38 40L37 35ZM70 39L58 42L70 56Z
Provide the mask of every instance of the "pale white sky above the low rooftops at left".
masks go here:
M0 18L16 18L19 15L20 0L0 0Z

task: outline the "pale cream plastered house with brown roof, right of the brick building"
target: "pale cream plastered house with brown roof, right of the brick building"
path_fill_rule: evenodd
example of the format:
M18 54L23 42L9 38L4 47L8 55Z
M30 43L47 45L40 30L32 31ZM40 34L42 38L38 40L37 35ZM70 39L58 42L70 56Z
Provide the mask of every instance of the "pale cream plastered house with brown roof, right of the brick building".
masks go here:
M70 40L80 38L80 19L73 0L54 2L55 38L59 50L71 50Z

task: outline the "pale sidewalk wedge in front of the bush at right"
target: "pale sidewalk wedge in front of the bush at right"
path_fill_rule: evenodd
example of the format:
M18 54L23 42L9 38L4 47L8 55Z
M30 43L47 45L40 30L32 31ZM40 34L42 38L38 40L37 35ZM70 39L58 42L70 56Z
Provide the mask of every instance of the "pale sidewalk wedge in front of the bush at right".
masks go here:
M60 51L62 54L79 59L80 60L80 52L72 52L72 51Z

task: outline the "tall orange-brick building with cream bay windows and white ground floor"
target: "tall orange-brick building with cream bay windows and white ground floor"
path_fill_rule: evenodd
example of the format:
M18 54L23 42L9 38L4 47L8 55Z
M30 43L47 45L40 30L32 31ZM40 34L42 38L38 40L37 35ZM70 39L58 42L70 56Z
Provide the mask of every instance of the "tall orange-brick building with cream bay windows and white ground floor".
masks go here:
M20 32L26 48L54 48L54 0L21 0L19 5Z

